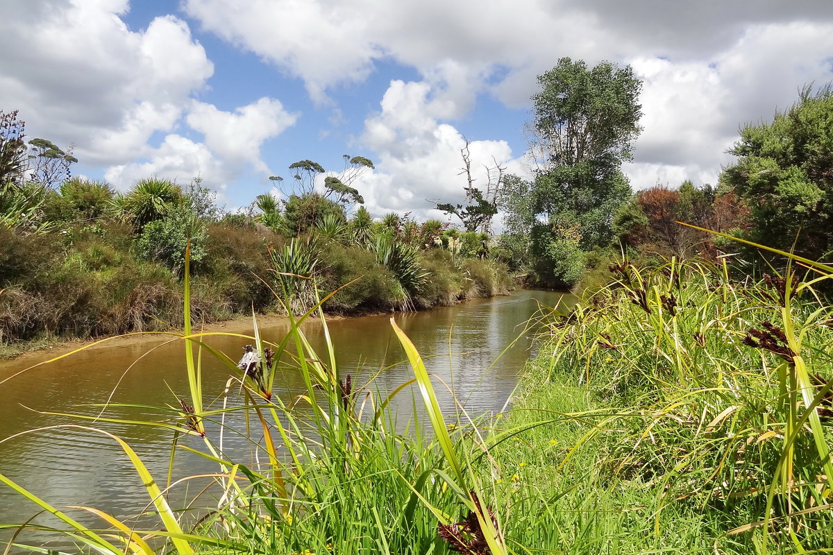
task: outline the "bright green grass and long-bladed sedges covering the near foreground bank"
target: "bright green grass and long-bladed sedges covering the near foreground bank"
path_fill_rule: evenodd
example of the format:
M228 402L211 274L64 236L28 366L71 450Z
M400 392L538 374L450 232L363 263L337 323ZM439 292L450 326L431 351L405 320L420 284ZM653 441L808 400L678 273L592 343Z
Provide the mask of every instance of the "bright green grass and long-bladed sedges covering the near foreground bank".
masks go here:
M89 530L32 500L98 553L828 553L833 310L812 281L823 271L737 280L703 262L613 265L616 280L571 313L544 311L538 355L492 419L441 414L440 384L396 330L430 422L404 434L390 398L340 373L337 345L313 352L297 325L267 344L255 328L245 339L272 363L241 373L186 321L191 397L145 425L171 430L172 457L193 450L177 441L190 434L217 463L193 478L215 493L188 509L202 507L198 522L165 502L182 484L152 481L126 444L158 529L102 514ZM205 356L227 361L245 404L203 409ZM272 396L287 364L307 384L291 405ZM232 411L246 429L224 428ZM223 434L247 435L253 457L226 458Z

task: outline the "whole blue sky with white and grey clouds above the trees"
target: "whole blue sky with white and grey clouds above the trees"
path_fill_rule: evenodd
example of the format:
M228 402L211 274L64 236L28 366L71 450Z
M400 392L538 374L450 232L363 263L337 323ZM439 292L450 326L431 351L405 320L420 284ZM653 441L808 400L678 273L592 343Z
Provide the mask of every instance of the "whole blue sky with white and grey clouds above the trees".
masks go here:
M352 184L374 216L443 219L466 139L476 186L530 171L530 97L560 57L643 81L634 190L716 183L741 126L833 80L833 2L0 0L0 52L0 110L118 191L199 176L235 211L347 154L375 163Z

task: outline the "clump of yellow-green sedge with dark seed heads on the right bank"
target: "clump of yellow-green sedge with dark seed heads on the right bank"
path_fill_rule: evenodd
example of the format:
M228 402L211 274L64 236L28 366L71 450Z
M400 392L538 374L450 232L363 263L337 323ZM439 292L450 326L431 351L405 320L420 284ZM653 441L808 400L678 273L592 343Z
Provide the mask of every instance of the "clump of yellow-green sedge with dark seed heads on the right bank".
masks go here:
M657 551L686 533L677 520L703 527L686 553L700 541L720 553L830 548L812 492L831 475L831 329L820 325L831 307L791 274L732 282L725 266L676 260L611 270L614 285L551 321L531 390L581 391L598 411L560 475L592 468L581 482L599 494L643 491L633 506L654 520L644 533ZM564 439L553 428L536 436ZM643 542L633 531L616 536Z

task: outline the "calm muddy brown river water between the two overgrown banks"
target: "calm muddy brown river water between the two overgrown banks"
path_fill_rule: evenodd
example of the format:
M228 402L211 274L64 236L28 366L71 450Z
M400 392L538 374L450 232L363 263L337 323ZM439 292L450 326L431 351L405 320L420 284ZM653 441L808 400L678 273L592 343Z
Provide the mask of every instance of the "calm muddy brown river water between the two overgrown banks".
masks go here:
M395 315L395 320L426 359L428 371L454 389L456 399L466 411L471 414L498 412L506 404L517 375L531 354L533 333L524 333L524 323L540 305L571 304L569 296L562 296L550 291L518 290L508 297L400 313ZM560 308L563 310L563 305ZM354 383L362 384L367 377L377 374L371 387L386 392L412 379L410 366L397 364L405 359L405 355L392 334L390 316L334 320L328 325L341 372L353 374ZM322 349L321 323L311 321L305 324L304 331L313 346ZM251 334L251 330L242 333ZM263 339L276 342L286 333L284 323L261 330ZM516 344L492 365L519 336ZM247 342L250 341L220 336L207 340L234 360L240 358L242 346ZM42 354L41 359L30 356L23 362L0 362L0 382L52 356ZM221 396L230 371L210 357L203 357L202 369L203 398L208 405ZM443 387L439 381L435 382L441 408L451 420L458 408L451 393ZM276 379L275 389L287 402L306 392L300 376L292 372ZM177 396L188 399L187 392L184 347L177 340L131 342L122 339L106 349L84 350L27 370L0 383L0 473L53 505L90 506L116 518L131 518L146 509L148 498L118 445L93 431L54 426L82 424L116 434L137 451L157 483L165 482L172 432L135 424L92 423L42 413L93 415L100 409L83 405L102 404L108 399L115 404L164 407L176 405ZM407 428L407 423L414 418L420 418L413 412L414 399L414 394L406 391L392 403L400 429ZM213 407L219 408L221 403L217 400ZM108 409L107 415L131 420L170 417L169 413L158 409L140 407ZM35 431L22 434L27 430ZM233 451L234 437L228 436L225 441L227 450ZM244 443L242 439L239 442ZM213 463L188 453L177 454L176 461L175 478L217 469ZM186 498L187 489L182 488L176 495ZM173 499L172 505L175 504L176 499ZM22 523L38 510L34 503L0 483L0 523ZM72 516L82 523L101 527L101 521L92 515L74 511ZM37 517L35 522L55 524L43 516ZM0 540L10 536L10 531L0 530ZM53 537L35 537L27 532L22 533L18 541L28 539L33 542L36 541L34 538ZM67 543L58 541L50 543L49 547L65 548ZM2 548L5 545L0 543L0 553ZM17 553L16 549L12 548L11 553Z

